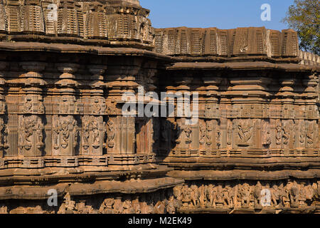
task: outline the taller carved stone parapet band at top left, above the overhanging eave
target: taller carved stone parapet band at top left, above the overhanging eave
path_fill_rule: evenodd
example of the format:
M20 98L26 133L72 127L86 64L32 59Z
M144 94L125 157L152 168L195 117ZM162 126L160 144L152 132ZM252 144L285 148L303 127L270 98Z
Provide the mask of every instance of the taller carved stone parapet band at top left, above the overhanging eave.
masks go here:
M99 1L1 0L0 33L28 33L69 42L130 39L150 45L154 39L149 10L139 4L122 6ZM20 33L20 34L19 34ZM73 38L70 38L72 36ZM55 37L56 38L56 37Z

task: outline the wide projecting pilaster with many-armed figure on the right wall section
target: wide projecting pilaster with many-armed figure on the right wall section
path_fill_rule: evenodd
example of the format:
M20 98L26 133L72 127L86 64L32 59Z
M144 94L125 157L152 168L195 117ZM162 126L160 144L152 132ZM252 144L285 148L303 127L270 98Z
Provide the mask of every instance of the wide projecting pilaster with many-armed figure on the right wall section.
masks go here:
M270 145L267 86L271 80L263 71L247 72L242 78L239 74L231 74L232 86L226 93L232 104L233 148L254 152Z

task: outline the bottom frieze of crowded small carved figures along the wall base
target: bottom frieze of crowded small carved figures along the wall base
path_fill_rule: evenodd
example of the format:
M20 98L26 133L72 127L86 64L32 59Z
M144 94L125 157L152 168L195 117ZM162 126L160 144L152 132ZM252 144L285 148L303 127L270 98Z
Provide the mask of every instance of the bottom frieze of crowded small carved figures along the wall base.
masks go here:
M176 214L319 212L319 181L186 182L147 194L106 194L94 197L65 192L58 214ZM18 207L19 206L19 207ZM21 207L0 204L1 213L50 213L46 204Z

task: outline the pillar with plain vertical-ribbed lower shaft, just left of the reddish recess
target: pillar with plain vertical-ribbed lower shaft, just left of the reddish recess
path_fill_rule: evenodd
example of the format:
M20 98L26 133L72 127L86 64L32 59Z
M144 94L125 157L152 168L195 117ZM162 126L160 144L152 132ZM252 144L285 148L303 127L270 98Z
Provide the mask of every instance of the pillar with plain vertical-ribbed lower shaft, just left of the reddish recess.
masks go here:
M122 95L126 92L137 95L139 84L136 82L136 76L140 66L141 60L125 57L108 63L105 78L108 87L106 104L109 117L106 125L107 154L134 155L135 153L135 118L123 115L122 105L127 100L122 100L124 98Z

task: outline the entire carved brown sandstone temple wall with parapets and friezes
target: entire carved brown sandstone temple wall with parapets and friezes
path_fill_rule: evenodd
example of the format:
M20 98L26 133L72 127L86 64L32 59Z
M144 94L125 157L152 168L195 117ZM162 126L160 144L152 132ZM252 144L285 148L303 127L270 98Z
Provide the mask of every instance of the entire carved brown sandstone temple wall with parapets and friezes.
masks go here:
M292 29L148 15L0 0L0 212L318 213L319 56ZM124 115L125 93L148 107L141 88L174 93L174 113Z

